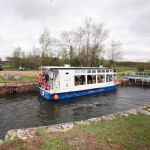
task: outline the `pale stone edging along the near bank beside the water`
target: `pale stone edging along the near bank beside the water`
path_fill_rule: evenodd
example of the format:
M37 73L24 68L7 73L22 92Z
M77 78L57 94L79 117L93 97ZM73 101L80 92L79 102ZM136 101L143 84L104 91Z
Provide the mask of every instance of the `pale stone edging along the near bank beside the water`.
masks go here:
M124 112L117 112L117 113L113 113L110 115L90 118L87 120L81 120L81 121L75 121L75 122L69 122L69 123L63 123L63 124L55 124L55 125L50 125L50 126L33 127L33 128L27 128L27 129L9 130L6 133L5 140L14 139L15 137L18 137L19 139L22 139L22 140L33 138L35 136L36 131L38 131L41 128L45 131L45 133L65 132L65 131L71 130L76 124L85 125L85 124L90 124L91 122L113 120L116 117L120 117L120 116L128 117L129 114L137 115L138 113L150 115L150 105L140 106L137 108L124 111Z

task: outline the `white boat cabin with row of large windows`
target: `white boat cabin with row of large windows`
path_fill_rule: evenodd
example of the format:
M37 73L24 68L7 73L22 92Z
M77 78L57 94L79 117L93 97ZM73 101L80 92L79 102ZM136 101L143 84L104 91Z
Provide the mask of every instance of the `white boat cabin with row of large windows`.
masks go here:
M42 67L49 74L50 92L70 92L114 85L116 71L105 67Z

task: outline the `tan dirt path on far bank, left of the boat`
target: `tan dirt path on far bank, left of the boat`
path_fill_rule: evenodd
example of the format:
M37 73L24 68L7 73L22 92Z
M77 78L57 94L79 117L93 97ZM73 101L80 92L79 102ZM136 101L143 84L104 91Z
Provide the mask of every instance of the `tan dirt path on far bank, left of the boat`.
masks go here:
M0 75L2 74L20 74L20 75L29 75L29 76L38 76L39 70L36 71L0 71Z

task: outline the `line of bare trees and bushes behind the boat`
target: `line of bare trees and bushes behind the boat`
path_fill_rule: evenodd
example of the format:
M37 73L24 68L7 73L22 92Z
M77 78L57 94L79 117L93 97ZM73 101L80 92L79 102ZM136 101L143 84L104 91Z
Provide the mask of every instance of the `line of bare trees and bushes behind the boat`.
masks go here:
M113 66L122 57L122 46L119 41L112 41L107 43L106 48L107 38L105 25L93 23L91 18L85 19L83 25L75 30L62 32L58 39L50 35L48 28L44 28L39 38L40 47L33 47L29 53L17 47L13 51L11 65L31 69L66 63L72 66ZM104 57L106 54L107 60Z

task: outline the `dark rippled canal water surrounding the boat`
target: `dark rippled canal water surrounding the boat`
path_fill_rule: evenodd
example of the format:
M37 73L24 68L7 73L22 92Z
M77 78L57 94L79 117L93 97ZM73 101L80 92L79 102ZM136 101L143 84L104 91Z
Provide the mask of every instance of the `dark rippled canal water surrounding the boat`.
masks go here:
M37 93L0 97L0 138L11 129L84 120L150 104L150 89L119 87L117 91L50 103Z

